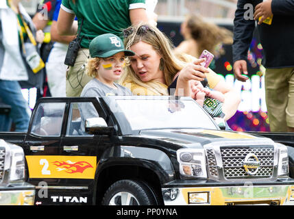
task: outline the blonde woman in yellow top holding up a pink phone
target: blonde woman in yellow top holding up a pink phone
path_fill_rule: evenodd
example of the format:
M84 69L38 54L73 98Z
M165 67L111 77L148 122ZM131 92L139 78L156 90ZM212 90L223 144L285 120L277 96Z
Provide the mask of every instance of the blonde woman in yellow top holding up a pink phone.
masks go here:
M214 90L225 94L223 113L225 120L232 117L238 108L238 92L209 68L200 65L187 55L175 55L173 46L164 34L150 25L138 25L125 29L125 49L134 51L130 65L125 69L120 83L132 90L135 95L169 95L168 86L179 72L175 95L191 96L191 79L203 81Z

